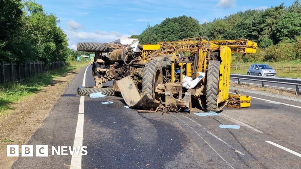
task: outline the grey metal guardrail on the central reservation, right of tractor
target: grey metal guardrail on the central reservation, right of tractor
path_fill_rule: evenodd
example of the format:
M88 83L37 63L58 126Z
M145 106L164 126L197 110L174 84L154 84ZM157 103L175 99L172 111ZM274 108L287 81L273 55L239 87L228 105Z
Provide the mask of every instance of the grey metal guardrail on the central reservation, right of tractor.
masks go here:
M299 94L299 86L301 86L301 79L297 79L297 78L278 78L278 77L264 77L264 76L239 75L239 74L230 74L230 78L237 79L238 84L240 84L240 80L260 81L262 82L262 88L265 87L265 82L293 85L296 86L296 94Z

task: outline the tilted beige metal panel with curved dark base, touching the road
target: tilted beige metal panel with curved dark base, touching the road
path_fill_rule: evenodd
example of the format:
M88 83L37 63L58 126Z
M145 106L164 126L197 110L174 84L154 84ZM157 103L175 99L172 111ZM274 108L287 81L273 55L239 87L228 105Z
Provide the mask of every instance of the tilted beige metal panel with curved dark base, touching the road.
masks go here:
M159 106L159 103L155 103L153 100L149 99L147 95L144 95L141 98L131 76L126 76L125 78L116 81L116 83L120 89L123 100L129 107L134 109L155 109Z

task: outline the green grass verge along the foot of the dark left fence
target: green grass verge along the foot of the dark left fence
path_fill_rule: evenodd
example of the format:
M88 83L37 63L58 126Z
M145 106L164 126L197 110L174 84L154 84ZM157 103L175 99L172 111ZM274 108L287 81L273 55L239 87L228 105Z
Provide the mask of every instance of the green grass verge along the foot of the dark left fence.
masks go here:
M60 69L37 75L26 81L0 85L0 117L8 110L14 109L11 107L11 104L21 101L31 94L37 93L45 86L53 85L54 78L62 77L68 72L80 69L86 65L87 63L70 62Z

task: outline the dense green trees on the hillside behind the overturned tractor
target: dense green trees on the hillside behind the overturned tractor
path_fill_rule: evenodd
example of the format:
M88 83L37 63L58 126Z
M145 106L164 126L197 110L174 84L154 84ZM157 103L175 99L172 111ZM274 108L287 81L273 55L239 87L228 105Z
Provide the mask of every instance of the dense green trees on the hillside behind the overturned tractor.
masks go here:
M174 41L194 36L209 39L246 38L259 45L257 53L244 61L291 61L301 59L301 4L280 4L265 10L237 12L212 22L198 24L192 17L167 18L138 36L141 43ZM239 57L237 57L239 58Z

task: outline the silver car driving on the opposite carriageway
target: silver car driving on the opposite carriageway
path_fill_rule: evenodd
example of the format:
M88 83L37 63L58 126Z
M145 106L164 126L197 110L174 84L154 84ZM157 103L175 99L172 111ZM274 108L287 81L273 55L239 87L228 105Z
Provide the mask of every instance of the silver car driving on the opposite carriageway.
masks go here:
M276 76L276 70L267 64L253 64L248 70L248 75Z

